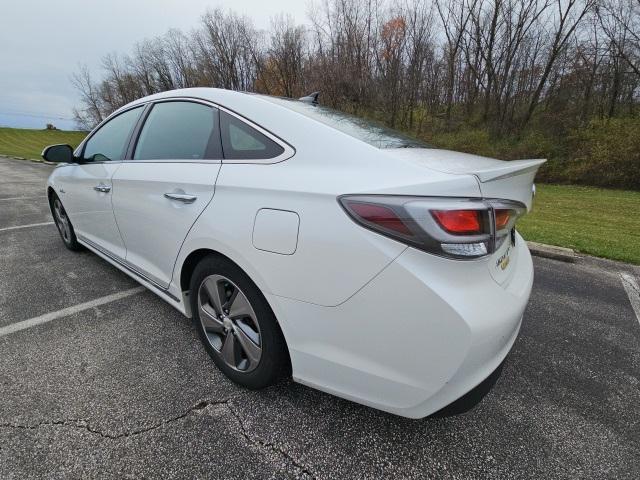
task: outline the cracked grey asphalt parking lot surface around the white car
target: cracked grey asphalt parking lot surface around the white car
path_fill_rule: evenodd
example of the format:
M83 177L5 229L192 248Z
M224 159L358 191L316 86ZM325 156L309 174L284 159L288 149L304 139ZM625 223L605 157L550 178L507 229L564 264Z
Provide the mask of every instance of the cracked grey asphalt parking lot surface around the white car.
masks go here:
M464 415L408 420L231 383L188 319L64 248L50 170L0 158L0 478L640 477L639 292L622 281L640 269L534 259L494 390Z

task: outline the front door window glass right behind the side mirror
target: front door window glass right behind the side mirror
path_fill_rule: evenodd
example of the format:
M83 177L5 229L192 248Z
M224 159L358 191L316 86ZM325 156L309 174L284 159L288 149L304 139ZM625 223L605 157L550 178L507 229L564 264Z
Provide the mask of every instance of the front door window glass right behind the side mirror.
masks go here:
M127 153L129 136L135 126L142 106L132 108L112 118L95 132L84 146L85 162L123 160Z

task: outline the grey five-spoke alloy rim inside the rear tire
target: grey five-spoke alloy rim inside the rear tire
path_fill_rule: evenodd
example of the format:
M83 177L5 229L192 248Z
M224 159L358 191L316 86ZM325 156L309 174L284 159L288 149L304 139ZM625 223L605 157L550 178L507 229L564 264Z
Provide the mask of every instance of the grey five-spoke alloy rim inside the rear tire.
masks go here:
M234 370L248 373L260 363L262 336L247 296L228 278L210 275L198 289L198 313L209 345Z

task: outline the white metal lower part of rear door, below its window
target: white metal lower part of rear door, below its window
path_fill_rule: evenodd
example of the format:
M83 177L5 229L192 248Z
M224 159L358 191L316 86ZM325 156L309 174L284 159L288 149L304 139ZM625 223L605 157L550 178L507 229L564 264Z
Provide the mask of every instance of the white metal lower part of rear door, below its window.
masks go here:
M213 198L220 166L133 161L113 176L113 209L126 261L163 288L189 229Z

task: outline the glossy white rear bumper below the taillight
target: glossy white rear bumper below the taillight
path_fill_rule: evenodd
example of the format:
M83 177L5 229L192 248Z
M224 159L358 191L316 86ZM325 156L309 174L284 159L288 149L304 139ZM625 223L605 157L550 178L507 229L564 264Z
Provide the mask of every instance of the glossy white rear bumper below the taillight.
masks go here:
M407 249L344 303L269 296L295 380L410 418L441 410L481 384L518 335L533 283L518 237L500 285L488 261Z

